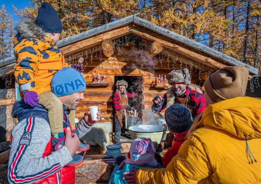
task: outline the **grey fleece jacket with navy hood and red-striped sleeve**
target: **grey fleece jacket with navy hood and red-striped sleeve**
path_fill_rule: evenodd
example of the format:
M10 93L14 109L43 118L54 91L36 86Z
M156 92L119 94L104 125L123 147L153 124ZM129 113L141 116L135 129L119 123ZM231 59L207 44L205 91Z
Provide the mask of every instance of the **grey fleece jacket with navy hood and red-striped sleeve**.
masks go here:
M71 160L66 146L42 157L50 142L48 113L41 105L30 107L23 101L13 106L12 116L18 123L12 131L12 145L8 163L9 183L35 183L62 169ZM82 137L90 131L82 119L76 123Z

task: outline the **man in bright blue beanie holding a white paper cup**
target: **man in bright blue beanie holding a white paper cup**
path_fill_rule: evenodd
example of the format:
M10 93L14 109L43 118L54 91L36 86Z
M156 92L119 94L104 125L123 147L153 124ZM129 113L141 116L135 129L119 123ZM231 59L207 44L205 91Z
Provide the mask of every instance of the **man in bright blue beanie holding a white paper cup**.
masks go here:
M17 101L12 110L12 116L18 118L19 122L11 135L9 183L73 184L75 181L75 167L67 164L77 155L79 137L89 132L93 124L100 120L101 112L99 109L98 120L92 121L87 111L76 123L77 130L73 131L68 113L75 110L79 101L84 99L85 80L76 70L64 67L54 74L51 86L52 92L63 104L66 138L60 139L57 149L52 151L54 138L51 136L47 110L40 104L31 107L24 101Z

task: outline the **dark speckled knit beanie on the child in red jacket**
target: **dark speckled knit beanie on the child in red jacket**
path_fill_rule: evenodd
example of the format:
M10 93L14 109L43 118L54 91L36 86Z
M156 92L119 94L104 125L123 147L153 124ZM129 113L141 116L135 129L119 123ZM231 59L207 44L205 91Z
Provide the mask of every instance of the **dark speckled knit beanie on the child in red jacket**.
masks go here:
M174 104L168 107L165 112L165 120L168 129L175 133L182 133L189 130L193 122L190 110L180 104Z

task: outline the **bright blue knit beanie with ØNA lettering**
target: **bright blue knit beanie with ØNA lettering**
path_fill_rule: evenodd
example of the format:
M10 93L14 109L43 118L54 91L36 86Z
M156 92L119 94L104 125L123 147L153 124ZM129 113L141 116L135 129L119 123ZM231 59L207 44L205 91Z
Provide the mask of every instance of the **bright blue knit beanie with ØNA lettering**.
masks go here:
M58 70L51 82L52 92L57 96L66 96L86 89L86 82L80 72L63 67Z

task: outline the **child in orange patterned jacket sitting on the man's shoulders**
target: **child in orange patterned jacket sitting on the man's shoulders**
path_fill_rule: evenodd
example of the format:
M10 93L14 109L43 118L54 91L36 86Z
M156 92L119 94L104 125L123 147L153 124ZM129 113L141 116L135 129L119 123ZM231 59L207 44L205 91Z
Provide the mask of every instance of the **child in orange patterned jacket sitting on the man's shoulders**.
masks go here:
M63 67L71 67L78 72L84 70L79 64L68 65L65 62L63 52L55 46L63 26L55 9L47 2L44 2L39 8L35 22L22 19L15 30L17 31L13 40L17 61L15 79L20 86L21 99L31 107L39 102L48 110L53 150L57 150L63 145L65 134L63 129L63 104L51 92L50 83L53 74ZM72 87L74 88L74 86ZM74 133L78 132L75 128L77 104L78 101L75 102L74 110L69 112L69 121ZM89 149L89 145L81 144L81 146L82 150ZM77 157L77 155L74 157ZM80 159L82 157L79 157L78 160Z

